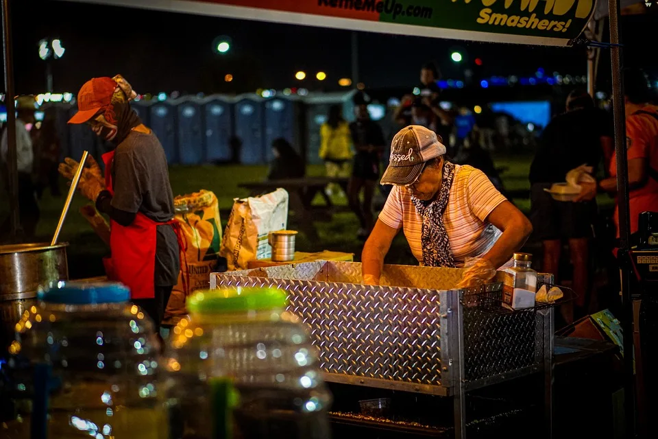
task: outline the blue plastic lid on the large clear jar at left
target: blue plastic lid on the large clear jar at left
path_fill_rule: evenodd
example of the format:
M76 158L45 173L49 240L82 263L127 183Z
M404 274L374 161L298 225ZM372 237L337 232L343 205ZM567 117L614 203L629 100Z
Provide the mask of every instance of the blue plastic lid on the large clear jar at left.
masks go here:
M130 300L130 289L118 282L60 281L38 293L39 300L69 305L97 305Z

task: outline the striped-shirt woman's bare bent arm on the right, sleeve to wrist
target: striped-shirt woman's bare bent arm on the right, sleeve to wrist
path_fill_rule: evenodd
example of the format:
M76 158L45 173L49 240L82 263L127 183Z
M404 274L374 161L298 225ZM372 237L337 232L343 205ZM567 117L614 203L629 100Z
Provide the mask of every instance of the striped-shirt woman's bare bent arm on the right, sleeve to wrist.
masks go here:
M502 230L502 235L493 247L483 255L494 268L504 265L526 243L533 233L533 225L511 202L504 201L496 206L487 221Z

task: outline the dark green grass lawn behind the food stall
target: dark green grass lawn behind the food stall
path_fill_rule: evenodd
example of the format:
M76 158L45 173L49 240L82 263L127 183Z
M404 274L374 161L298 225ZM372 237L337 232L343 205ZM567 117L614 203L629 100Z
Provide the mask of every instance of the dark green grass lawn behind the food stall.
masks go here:
M528 190L528 171L531 158L496 158L497 166L507 167L507 171L502 174L504 185L510 190ZM320 176L324 168L320 165L310 165L307 169L309 176ZM267 174L265 166L194 166L171 167L169 176L171 187L174 195L191 193L199 189L213 191L219 200L219 208L228 210L233 204L234 198L243 198L249 195L245 189L240 189L238 185L244 182L254 182L262 180ZM68 189L62 180L64 193ZM0 219L8 214L8 197L4 191L2 193L2 202L0 203ZM381 195L380 195L381 196ZM319 202L319 200L317 200ZM345 204L344 198L334 197L335 204ZM526 213L530 208L530 201L527 199L515 199L515 204ZM612 200L606 198L600 200L602 204L609 205ZM87 204L82 195L76 194L66 217L61 242L69 242L69 272L71 278L80 278L86 276L97 276L103 274L101 257L108 254L109 249L99 237L93 232L86 220L78 213L81 206ZM38 225L39 241L50 241L58 219L64 205L64 196L53 198L49 191L46 191L40 200L41 219ZM226 225L228 217L222 215L223 226ZM294 215L291 215L290 228L295 227ZM356 239L356 230L358 222L352 213L338 213L333 216L331 222L317 223L319 242L309 241L303 234L297 239L297 250L315 252L321 250L336 250L343 252L353 252L355 259L360 259L361 248L363 243ZM393 243L391 252L387 259L388 263L415 263L411 256L409 246L402 233L398 235Z

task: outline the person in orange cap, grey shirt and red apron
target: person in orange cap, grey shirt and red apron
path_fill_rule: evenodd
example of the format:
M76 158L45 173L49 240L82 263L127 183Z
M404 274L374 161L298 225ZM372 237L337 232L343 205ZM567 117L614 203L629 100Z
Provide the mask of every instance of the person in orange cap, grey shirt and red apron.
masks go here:
M80 89L78 112L69 123L87 123L112 145L103 154L104 176L90 156L78 188L110 217L116 280L130 287L133 302L160 327L171 289L178 282L179 241L167 158L158 138L130 108L134 97L121 75L94 78ZM78 166L66 158L60 174L70 180Z

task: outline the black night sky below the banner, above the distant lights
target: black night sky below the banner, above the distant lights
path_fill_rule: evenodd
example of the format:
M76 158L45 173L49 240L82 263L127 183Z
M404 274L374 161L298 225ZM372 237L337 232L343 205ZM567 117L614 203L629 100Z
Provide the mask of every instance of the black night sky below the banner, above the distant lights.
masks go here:
M241 93L256 88L304 86L335 90L337 80L351 71L350 32L155 12L55 0L11 0L14 36L16 94L45 91L45 63L38 57L38 41L47 36L62 40L66 53L53 62L55 90L76 93L94 76L117 73L138 93ZM654 32L657 15L622 19L626 65L658 73ZM230 54L212 51L218 36L232 39ZM525 47L468 43L411 36L359 32L360 80L368 88L415 86L419 67L435 60L443 75L455 78L463 64L450 61L450 52L461 50L467 62L483 60L488 75L547 72L585 75L583 49ZM294 79L297 70L308 73L304 82ZM328 78L320 84L315 72ZM226 73L234 81L223 82ZM609 87L609 58L602 56L600 83Z

